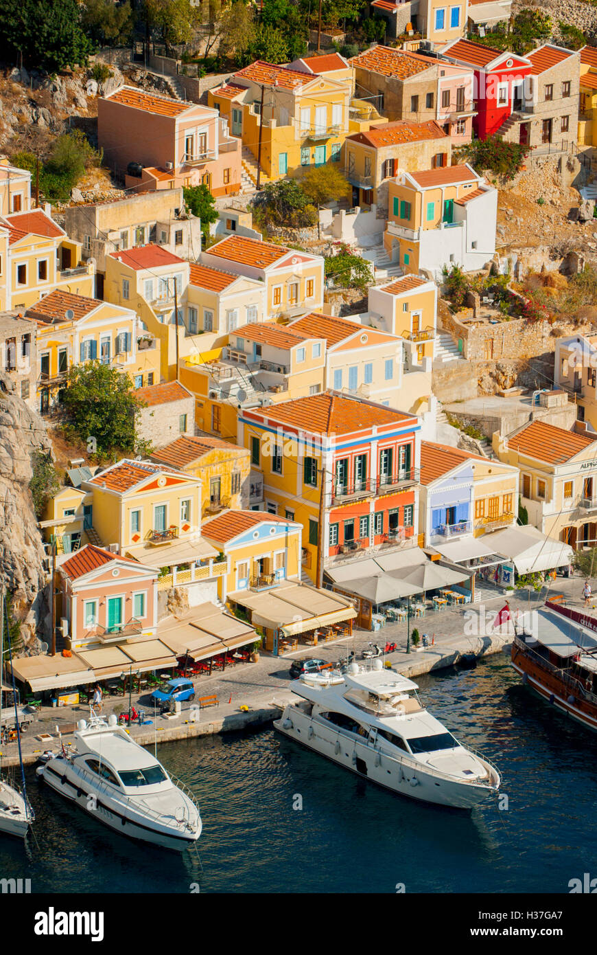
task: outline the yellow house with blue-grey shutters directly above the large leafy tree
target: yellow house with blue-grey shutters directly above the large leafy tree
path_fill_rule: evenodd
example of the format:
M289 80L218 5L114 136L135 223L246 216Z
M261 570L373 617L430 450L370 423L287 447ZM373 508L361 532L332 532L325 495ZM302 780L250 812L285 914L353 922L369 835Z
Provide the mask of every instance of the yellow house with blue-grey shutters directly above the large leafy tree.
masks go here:
M159 343L141 328L132 308L55 289L25 314L36 326L42 414L64 387L73 365L97 359L126 371L135 388L159 380Z

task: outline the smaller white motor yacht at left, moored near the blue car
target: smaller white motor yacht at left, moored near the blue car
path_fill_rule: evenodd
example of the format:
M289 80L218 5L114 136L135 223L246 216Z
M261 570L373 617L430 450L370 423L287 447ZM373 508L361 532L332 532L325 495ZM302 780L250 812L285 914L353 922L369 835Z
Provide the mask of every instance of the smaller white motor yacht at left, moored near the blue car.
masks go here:
M74 739L76 749L52 753L37 769L53 790L125 836L175 850L196 842L201 817L195 799L116 725L115 716L80 720Z

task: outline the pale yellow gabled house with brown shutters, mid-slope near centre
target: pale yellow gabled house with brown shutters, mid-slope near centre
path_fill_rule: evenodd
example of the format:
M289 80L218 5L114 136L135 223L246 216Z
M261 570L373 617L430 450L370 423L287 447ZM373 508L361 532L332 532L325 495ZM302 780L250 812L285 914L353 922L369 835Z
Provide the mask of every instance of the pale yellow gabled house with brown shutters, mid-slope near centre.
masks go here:
M261 282L266 318L296 318L323 305L320 255L232 235L202 252L201 264Z

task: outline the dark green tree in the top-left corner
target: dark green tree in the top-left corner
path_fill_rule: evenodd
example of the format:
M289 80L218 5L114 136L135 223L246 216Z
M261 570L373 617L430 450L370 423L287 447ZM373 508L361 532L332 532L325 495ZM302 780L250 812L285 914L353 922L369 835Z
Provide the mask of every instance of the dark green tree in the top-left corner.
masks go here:
M0 59L44 67L50 73L84 66L93 44L76 0L3 0Z

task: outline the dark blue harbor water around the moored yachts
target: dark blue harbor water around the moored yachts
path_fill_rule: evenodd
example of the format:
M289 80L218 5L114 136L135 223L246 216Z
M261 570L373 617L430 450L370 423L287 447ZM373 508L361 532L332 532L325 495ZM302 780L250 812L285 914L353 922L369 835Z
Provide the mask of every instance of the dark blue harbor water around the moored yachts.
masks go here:
M534 698L502 654L418 682L429 710L501 770L507 808L394 796L267 727L159 747L203 817L181 855L113 833L28 770L35 837L0 837L0 878L30 879L32 893L567 893L597 874L597 735Z

